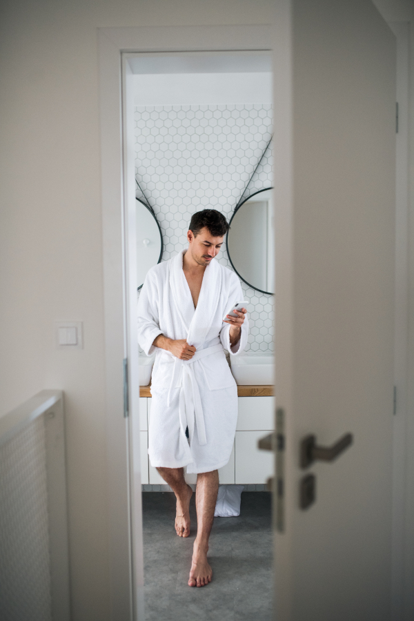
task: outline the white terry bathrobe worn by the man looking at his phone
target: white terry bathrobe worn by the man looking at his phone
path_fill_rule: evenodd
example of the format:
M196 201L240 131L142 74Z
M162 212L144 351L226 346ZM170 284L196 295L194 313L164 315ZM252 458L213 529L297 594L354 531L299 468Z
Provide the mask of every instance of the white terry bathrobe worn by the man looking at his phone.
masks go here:
M230 459L237 424L237 386L224 348L240 353L247 342L244 319L239 342L230 346L229 304L243 299L237 275L212 259L204 271L197 308L183 271L183 250L152 267L138 302L138 342L152 368L148 453L152 466L210 472ZM196 348L189 361L152 346L159 334L186 339ZM188 427L189 439L186 437Z

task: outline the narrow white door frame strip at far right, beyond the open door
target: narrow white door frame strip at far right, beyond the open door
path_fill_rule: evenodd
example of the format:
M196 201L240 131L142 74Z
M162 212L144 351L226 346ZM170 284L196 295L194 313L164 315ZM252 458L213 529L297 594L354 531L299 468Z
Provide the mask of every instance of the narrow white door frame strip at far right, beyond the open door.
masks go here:
M413 618L414 599L411 595L414 580L412 566L413 524L409 519L414 503L413 481L408 468L410 447L414 446L410 426L409 394L409 55L410 23L388 22L397 43L396 101L398 102L398 132L395 158L395 405L393 420L393 532L391 619L408 621ZM410 433L411 431L411 433ZM411 566L410 566L411 561Z

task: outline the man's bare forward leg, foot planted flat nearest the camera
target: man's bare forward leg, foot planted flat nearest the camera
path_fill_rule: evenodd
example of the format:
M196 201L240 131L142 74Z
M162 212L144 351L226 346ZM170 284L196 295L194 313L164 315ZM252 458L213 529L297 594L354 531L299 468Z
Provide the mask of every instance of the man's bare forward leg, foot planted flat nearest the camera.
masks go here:
M205 472L197 476L195 506L197 509L197 537L193 548L188 586L206 586L213 578L213 571L207 562L208 538L213 526L217 491L219 489L219 473Z

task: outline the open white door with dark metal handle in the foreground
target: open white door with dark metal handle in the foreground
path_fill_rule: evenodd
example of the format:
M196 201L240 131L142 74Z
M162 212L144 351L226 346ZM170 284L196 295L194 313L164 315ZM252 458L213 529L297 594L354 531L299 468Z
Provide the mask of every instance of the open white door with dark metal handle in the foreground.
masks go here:
M286 146L275 162L275 394L285 437L275 494L277 619L385 621L395 40L369 0L292 0L285 8L276 48L291 55L276 49L275 60L275 143ZM301 468L306 435L332 446L348 432L353 444L336 460ZM308 475L315 502L301 509Z

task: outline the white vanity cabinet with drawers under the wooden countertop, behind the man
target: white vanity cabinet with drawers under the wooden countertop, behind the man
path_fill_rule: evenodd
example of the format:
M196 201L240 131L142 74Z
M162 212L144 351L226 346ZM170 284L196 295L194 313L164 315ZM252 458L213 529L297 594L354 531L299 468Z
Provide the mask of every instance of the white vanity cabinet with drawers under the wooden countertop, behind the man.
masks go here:
M273 475L273 453L259 451L258 440L273 431L273 397L238 397L239 417L235 444L230 460L219 469L221 484L263 484ZM148 421L151 415L151 397L139 398L139 446L141 449L142 484L163 485L157 469L148 460ZM188 483L195 483L197 475L186 475Z

